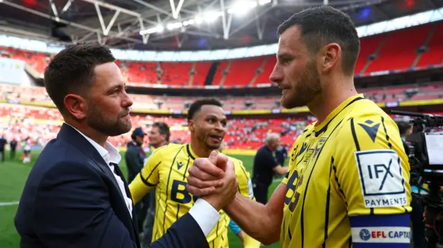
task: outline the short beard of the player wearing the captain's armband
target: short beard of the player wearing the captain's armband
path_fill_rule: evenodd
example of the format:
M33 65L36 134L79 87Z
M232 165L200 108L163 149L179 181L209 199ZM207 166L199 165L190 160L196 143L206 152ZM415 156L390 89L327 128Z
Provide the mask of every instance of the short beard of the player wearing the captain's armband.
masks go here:
M309 102L321 93L320 75L316 68L316 60L311 59L297 79L296 84L292 85L289 97L282 97L281 104L284 108L296 108L306 106Z

